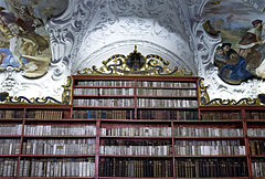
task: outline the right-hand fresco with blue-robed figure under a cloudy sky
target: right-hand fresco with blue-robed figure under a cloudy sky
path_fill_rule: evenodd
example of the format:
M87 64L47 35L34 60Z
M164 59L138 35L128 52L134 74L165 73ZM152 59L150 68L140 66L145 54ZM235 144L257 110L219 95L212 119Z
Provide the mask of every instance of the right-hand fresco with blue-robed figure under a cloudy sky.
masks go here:
M210 0L204 7L204 30L221 33L213 63L227 84L265 78L265 13L245 1Z

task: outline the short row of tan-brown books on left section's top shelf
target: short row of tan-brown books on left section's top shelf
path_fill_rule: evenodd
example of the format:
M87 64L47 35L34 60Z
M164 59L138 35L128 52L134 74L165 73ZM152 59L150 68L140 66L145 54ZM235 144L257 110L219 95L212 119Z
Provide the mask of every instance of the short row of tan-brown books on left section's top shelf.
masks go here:
M62 110L30 110L26 113L26 118L36 119L62 119Z

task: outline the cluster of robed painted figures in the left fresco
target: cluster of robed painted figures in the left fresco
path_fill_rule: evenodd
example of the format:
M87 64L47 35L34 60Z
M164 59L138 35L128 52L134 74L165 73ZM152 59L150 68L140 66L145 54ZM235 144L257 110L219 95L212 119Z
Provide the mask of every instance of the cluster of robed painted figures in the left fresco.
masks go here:
M49 49L49 42L35 29L43 27L41 19L35 18L28 7L22 6L15 13L4 12L0 7L0 34L1 39L9 42L0 51L0 70L7 66L23 70L26 77L40 77L47 72L50 56L42 55Z

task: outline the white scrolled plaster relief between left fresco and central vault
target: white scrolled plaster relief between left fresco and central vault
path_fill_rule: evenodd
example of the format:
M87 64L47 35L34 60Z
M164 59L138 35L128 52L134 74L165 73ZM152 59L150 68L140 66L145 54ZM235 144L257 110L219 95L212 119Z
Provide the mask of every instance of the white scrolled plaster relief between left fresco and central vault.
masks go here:
M94 17L97 9L94 0L70 0L67 10L61 17L49 21L52 64L55 69L53 78L60 78L65 72L70 75L71 59L76 56L84 30Z

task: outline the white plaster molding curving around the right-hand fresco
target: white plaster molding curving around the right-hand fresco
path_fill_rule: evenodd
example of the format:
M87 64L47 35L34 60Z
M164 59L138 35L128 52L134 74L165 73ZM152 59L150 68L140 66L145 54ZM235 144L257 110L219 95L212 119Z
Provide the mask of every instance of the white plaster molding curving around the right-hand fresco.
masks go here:
M223 82L218 75L218 67L213 65L213 57L215 49L221 44L221 35L209 35L202 24L202 10L206 0L200 2L200 8L197 12L190 15L197 15L191 25L192 40L194 43L195 62L199 70L199 76L203 77L204 85L208 86L208 94L211 99L234 99L241 101L242 98L257 98L258 94L264 93L265 83L262 80L248 80L240 85L230 85ZM235 95L236 94L236 95Z

